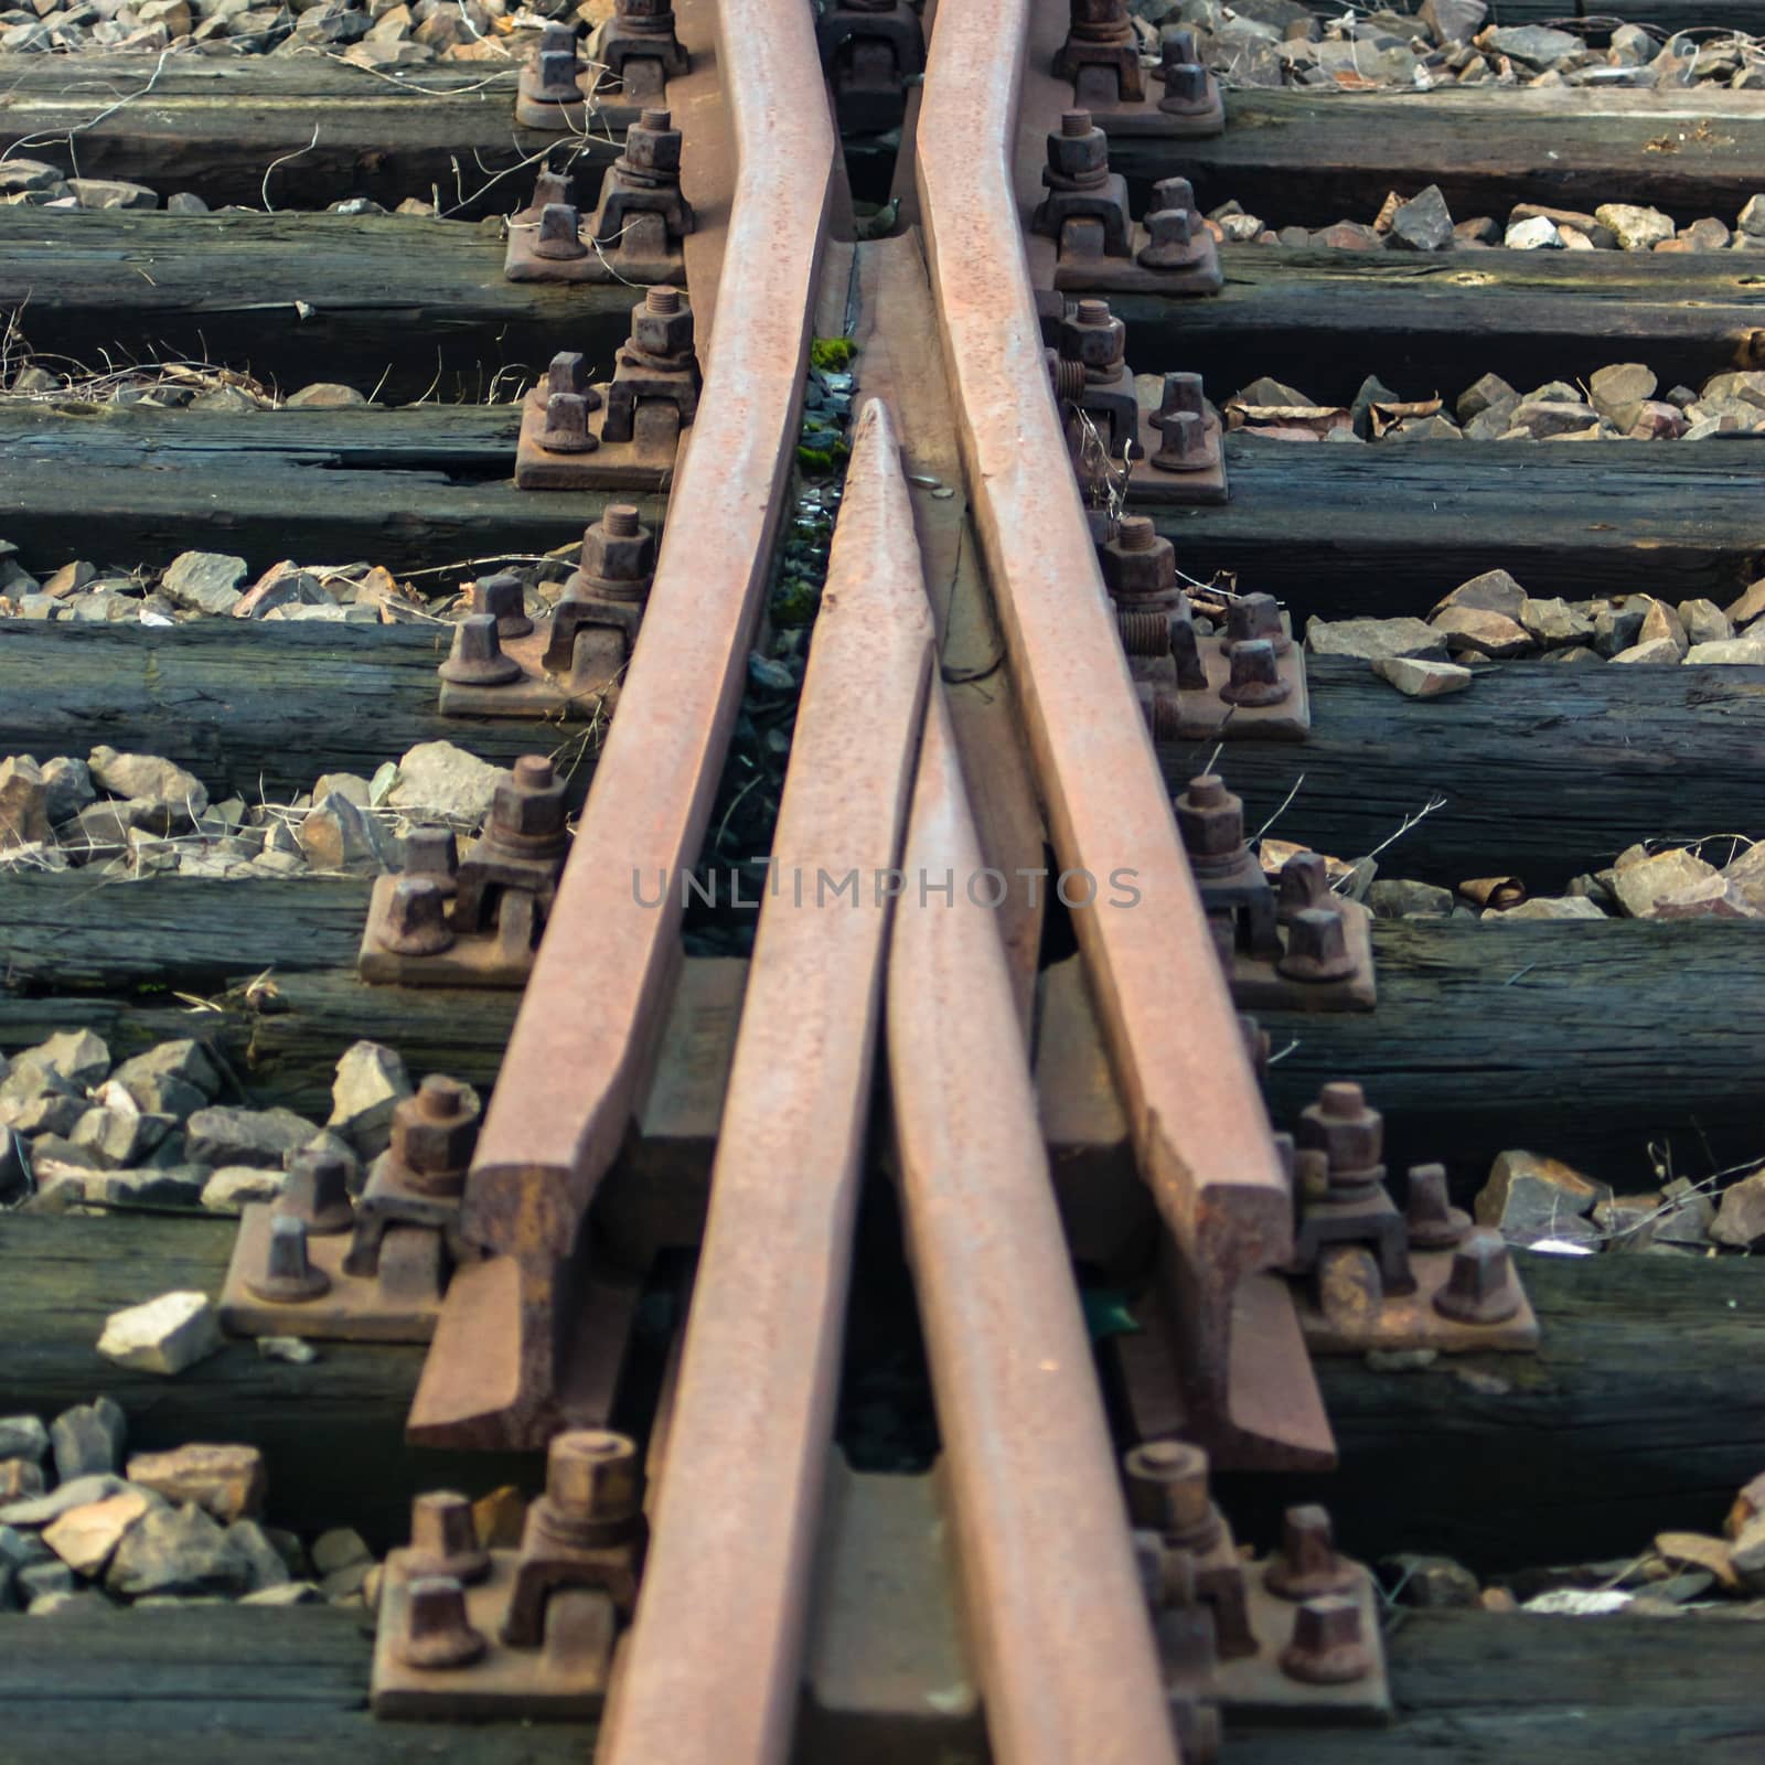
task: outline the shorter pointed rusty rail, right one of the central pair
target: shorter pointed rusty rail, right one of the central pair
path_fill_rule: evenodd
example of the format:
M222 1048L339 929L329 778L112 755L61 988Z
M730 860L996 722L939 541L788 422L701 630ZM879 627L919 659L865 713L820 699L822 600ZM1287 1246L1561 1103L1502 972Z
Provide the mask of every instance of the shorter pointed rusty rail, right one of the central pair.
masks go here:
M1001 1765L1175 1761L1108 1426L939 687L888 976L902 1213ZM950 895L943 893L948 886Z

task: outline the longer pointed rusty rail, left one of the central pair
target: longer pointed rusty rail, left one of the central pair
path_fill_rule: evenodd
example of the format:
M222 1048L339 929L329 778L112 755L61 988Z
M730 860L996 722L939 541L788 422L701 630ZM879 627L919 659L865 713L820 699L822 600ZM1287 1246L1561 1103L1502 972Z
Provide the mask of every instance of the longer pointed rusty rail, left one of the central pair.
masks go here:
M782 1761L838 1384L891 888L932 665L893 427L858 420L602 1765ZM822 877L858 879L856 905Z

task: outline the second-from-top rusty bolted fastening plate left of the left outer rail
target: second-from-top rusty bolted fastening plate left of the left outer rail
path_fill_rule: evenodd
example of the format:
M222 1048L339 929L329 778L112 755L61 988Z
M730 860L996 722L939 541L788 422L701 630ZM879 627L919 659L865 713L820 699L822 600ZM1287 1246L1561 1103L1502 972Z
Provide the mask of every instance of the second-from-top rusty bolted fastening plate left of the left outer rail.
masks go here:
M508 222L510 282L685 282L680 242L697 221L680 189L681 134L665 109L625 131L584 221L568 173L540 171L533 201Z

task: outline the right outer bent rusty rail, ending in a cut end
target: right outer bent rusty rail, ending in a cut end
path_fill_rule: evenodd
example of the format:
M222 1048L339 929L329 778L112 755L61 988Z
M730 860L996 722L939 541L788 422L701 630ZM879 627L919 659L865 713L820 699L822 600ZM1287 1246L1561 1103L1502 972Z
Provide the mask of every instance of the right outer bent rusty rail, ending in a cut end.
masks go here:
M1232 1288L1285 1258L1292 1205L1068 464L1011 182L1029 0L944 7L920 205L976 521L1140 1170L1175 1236L1198 1387L1227 1403ZM1001 53L1001 46L1008 46ZM1110 877L1131 872L1133 905Z

